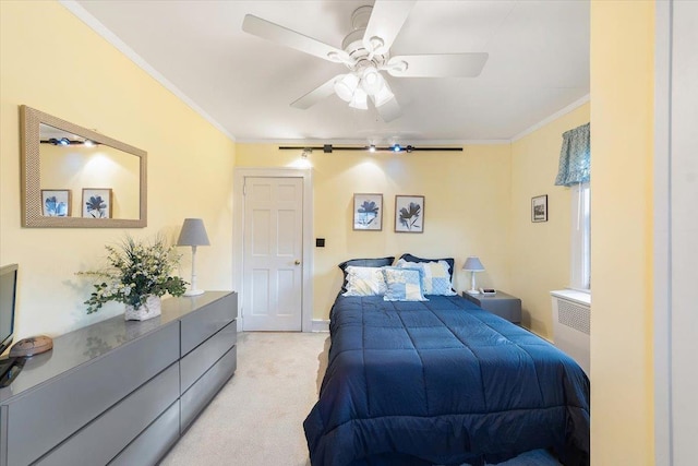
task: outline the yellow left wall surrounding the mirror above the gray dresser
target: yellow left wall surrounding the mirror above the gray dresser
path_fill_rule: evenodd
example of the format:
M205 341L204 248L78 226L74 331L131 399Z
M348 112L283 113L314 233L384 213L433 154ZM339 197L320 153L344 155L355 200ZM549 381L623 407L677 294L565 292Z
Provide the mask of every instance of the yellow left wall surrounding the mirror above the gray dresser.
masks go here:
M57 335L123 312L86 315L104 246L127 234L176 240L202 217L210 247L197 251L198 285L232 288L234 143L58 2L0 1L0 264L20 264L17 337ZM22 228L19 106L71 121L148 153L148 227ZM189 278L190 250L181 274Z

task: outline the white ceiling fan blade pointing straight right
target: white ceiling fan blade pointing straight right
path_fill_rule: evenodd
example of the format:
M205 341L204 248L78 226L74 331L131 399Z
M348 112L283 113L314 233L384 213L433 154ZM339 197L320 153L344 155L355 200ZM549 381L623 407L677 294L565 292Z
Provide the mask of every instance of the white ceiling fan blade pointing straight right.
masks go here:
M489 53L404 55L382 67L396 77L476 77L482 72Z

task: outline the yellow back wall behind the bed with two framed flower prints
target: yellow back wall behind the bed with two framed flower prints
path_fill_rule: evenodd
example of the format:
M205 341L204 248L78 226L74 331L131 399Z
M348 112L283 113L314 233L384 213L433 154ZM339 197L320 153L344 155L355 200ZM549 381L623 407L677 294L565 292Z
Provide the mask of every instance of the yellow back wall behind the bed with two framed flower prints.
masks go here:
M270 144L238 144L237 166L286 167L299 151ZM486 271L478 285L509 289L510 148L508 144L469 145L462 153L359 153L315 151L313 237L315 248L313 318L327 319L341 286L337 267L351 258L377 258L405 252L424 258L455 258L456 289L469 288L462 272L468 255L478 255ZM353 231L354 193L383 193L383 231ZM396 234L395 195L424 195L424 232Z

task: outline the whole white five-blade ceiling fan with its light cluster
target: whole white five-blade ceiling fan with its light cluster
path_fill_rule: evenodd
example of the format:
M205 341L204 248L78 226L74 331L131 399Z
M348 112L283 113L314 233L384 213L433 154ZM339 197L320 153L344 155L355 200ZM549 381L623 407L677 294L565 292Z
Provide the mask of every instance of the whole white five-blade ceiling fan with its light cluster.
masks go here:
M382 72L394 77L474 77L489 57L485 52L390 56L390 46L414 3L376 0L373 7L359 7L351 15L352 31L341 49L252 14L244 16L242 29L348 68L347 73L321 84L291 107L306 109L336 94L352 108L368 109L371 99L387 122L399 117L400 107Z

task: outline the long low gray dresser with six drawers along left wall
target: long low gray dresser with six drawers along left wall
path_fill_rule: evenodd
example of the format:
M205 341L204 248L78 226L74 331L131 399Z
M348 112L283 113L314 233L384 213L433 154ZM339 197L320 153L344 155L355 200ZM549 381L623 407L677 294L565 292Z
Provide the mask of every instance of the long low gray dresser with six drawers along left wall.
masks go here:
M237 315L207 291L55 338L0 390L0 466L157 463L233 374Z

